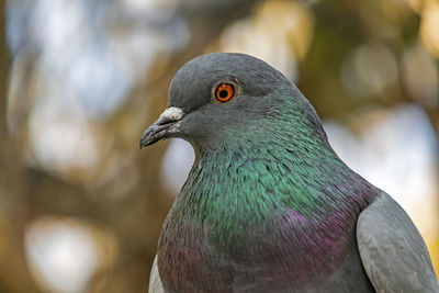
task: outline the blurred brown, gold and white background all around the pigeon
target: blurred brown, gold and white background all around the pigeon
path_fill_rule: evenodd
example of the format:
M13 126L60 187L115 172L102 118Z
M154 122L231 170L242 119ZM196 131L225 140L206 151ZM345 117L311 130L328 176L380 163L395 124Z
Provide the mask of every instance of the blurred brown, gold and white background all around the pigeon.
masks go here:
M146 292L193 161L139 151L176 70L264 59L412 216L439 271L437 0L0 0L0 292Z

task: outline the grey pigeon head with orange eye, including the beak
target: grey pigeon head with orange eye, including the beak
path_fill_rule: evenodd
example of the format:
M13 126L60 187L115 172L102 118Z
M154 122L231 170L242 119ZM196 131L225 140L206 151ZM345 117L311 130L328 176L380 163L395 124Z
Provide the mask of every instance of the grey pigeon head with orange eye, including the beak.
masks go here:
M195 149L246 144L277 127L267 122L279 120L285 109L294 116L315 113L295 86L267 63L245 54L203 55L178 70L168 108L145 131L140 148L169 137L183 138Z

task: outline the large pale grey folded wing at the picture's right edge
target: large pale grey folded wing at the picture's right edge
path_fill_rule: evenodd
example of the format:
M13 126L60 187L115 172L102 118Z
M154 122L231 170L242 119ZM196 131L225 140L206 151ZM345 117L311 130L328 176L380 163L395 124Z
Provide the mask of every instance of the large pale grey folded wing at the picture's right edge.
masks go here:
M357 240L376 292L439 292L423 237L405 211L384 192L360 214Z

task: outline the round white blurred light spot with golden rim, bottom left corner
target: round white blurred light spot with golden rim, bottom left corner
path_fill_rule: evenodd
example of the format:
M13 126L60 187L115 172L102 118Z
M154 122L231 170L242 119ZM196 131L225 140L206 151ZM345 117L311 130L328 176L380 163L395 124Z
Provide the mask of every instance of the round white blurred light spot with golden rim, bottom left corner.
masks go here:
M37 218L26 227L24 241L31 272L49 292L76 293L99 286L116 255L114 235L74 218Z

